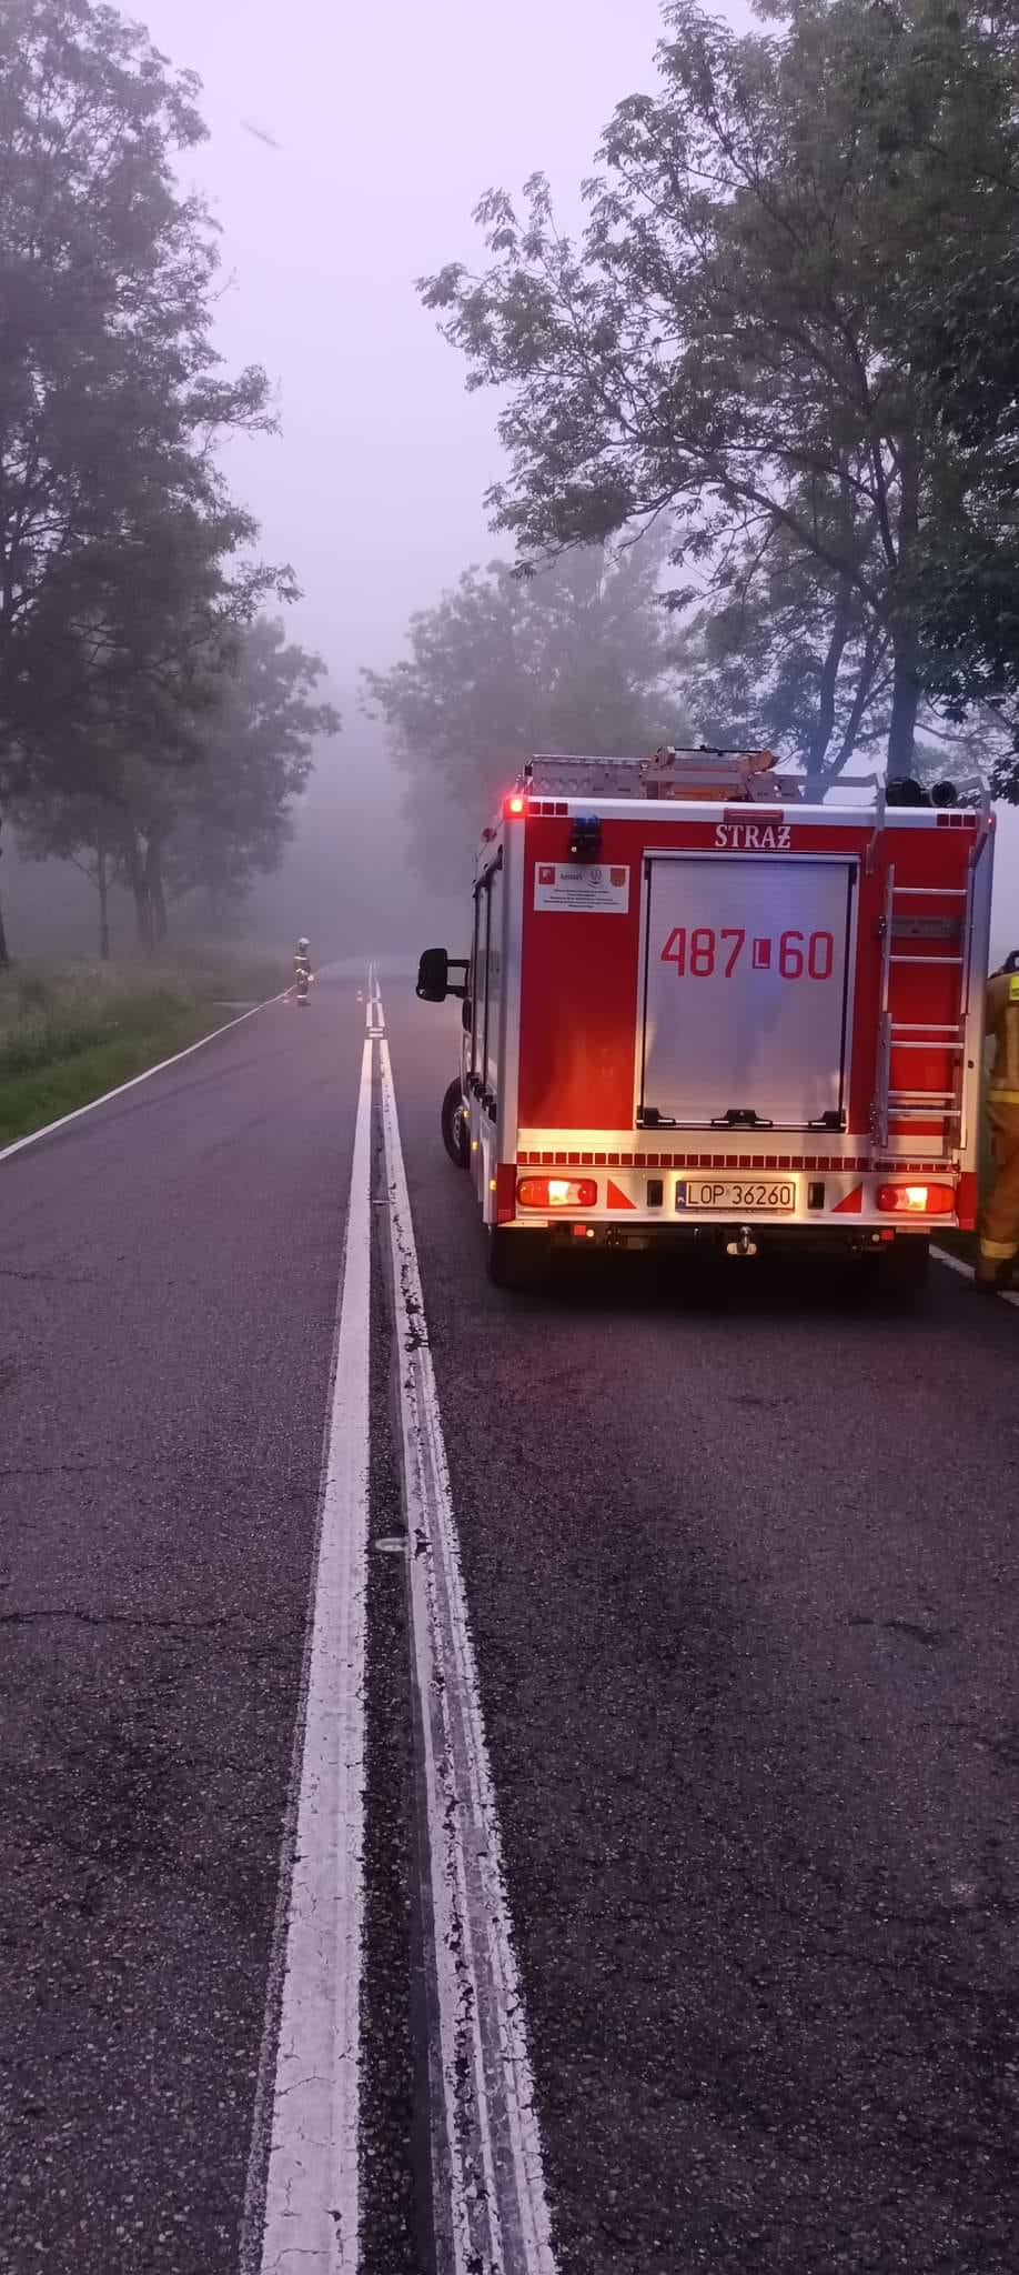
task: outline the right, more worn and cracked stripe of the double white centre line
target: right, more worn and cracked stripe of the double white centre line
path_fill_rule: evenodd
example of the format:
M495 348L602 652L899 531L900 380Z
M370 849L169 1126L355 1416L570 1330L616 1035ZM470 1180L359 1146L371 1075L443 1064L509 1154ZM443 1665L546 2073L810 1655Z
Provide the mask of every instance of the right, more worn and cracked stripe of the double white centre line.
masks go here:
M555 2275L496 1795L384 1042L380 1076L439 2013L437 2252L450 2275Z

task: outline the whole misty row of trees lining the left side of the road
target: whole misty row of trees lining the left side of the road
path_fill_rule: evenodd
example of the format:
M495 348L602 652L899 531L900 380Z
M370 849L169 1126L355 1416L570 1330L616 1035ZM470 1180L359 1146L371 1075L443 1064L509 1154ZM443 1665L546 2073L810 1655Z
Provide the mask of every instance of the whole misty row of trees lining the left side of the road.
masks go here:
M84 869L107 953L118 880L146 944L175 894L223 921L339 719L216 455L275 419L212 346L198 82L109 7L7 0L0 84L0 821Z

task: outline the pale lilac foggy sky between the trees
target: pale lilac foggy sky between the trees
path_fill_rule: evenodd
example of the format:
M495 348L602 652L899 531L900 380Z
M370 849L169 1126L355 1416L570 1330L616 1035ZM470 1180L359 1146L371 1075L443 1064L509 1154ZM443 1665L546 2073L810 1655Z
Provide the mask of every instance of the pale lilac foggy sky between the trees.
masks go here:
M264 555L293 562L289 632L321 651L343 710L284 869L246 924L309 930L330 951L368 946L382 924L409 949L459 912L407 876L403 783L359 714L357 673L396 662L409 612L496 551L482 498L500 471L498 405L464 391L414 278L478 253L471 209L494 182L519 189L544 168L578 218L605 118L653 84L660 7L139 0L130 14L202 80L209 141L184 180L223 232L218 346L227 369L266 366L282 421L280 439L230 444L227 475ZM1012 933L1014 814L1001 853L999 940ZM55 928L61 946L89 944L84 880L57 887L52 864L16 855L2 869L16 951L52 944Z

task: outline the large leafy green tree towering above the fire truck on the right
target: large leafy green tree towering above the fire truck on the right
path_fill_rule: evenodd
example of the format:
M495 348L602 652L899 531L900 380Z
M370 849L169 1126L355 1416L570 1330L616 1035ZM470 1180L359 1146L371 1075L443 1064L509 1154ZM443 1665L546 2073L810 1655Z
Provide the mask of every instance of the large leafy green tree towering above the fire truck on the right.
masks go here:
M778 14L778 7L776 7ZM678 510L712 566L771 539L889 648L889 774L923 696L914 562L967 460L908 307L955 246L1017 223L1014 32L948 0L792 0L780 34L664 7L587 184L580 246L541 177L480 207L491 264L425 280L469 384L507 389L496 519L530 555Z

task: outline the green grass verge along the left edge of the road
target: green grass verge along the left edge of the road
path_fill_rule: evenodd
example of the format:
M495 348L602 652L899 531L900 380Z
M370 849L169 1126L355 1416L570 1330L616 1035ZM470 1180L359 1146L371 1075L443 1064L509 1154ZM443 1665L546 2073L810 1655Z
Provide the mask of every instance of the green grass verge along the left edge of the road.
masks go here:
M287 958L257 951L0 971L0 1147L173 1058L287 981Z

